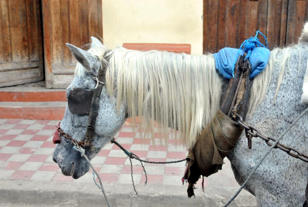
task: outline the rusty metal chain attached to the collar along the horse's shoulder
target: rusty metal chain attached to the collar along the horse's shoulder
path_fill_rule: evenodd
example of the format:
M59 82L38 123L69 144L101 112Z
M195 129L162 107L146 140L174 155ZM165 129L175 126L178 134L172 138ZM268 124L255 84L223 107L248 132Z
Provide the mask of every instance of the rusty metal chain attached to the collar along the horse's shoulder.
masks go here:
M272 146L273 143L270 143L270 141L276 142L276 139L274 137L266 137L265 135L263 135L262 133L260 133L260 130L257 129L256 127L246 124L243 121L243 118L241 117L241 115L239 115L238 113L236 114L236 116L239 118L239 120L237 121L237 124L242 126L245 129L245 136L248 139L248 148L251 149L251 139L252 137L260 137L261 139L263 139L265 141L265 143L269 146ZM297 149L293 148L293 147L287 147L286 145L283 145L281 143L277 143L276 146L274 146L274 148L278 148L281 149L282 151L286 152L288 155L298 158L304 162L308 162L308 155L301 153L300 151L298 151ZM291 151L295 152L292 153Z

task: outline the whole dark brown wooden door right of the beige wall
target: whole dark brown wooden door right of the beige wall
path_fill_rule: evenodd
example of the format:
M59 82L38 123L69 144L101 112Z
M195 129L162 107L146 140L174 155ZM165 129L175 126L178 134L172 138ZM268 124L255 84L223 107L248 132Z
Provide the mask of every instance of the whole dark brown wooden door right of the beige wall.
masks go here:
M203 16L205 51L239 48L257 30L266 35L272 49L297 42L308 20L308 0L204 0Z

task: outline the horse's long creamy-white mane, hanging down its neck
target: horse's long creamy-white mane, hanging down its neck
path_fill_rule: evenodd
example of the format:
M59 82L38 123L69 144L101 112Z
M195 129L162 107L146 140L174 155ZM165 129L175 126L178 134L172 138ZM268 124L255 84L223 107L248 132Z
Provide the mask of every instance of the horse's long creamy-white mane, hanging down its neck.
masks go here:
M250 115L264 99L274 68L280 70L275 99L285 66L291 56L301 58L301 47L295 45L271 51L265 70L253 80ZM307 45L305 47L307 49ZM106 61L106 57L103 57L106 50L102 46L91 48L89 52ZM141 52L118 47L111 50L107 57L107 92L110 97L115 95L118 109L122 103L127 104L133 126L138 117L139 129L151 132L154 138L154 125L158 125L165 141L169 138L168 127L171 127L177 132L174 137L180 143L188 148L193 147L198 135L219 108L222 80L215 69L213 55L156 50ZM84 75L80 64L77 64L75 74Z

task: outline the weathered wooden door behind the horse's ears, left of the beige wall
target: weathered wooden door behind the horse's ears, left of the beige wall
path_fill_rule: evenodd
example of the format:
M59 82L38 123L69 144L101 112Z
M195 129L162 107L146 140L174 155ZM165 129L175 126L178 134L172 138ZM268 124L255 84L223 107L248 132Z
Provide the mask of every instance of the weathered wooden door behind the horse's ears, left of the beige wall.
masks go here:
M43 35L47 88L67 88L76 60L65 43L82 47L103 37L102 0L43 0Z

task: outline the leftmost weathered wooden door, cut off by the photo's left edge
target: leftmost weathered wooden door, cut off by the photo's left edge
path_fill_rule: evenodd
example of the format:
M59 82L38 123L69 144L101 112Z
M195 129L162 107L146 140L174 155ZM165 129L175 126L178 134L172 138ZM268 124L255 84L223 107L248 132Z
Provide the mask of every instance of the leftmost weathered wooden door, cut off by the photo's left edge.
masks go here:
M0 0L0 87L41 81L40 0Z

